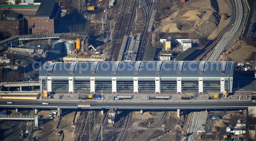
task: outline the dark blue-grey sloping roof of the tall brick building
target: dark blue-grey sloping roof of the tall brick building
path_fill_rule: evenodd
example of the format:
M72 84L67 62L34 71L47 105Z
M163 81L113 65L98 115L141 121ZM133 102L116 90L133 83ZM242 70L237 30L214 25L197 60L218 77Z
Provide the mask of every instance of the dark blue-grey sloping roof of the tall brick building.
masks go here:
M35 17L50 17L51 11L52 9L54 9L55 3L56 0L42 0Z

